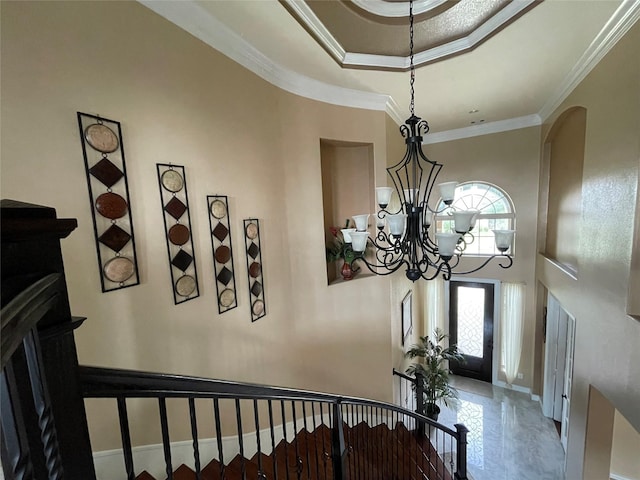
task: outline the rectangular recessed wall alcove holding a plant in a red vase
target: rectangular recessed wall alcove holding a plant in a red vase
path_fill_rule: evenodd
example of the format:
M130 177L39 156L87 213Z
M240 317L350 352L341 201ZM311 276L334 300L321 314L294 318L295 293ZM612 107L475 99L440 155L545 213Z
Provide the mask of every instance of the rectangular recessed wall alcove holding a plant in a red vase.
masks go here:
M325 245L330 245L331 227L344 228L353 215L375 212L373 144L320 139L320 160ZM341 268L342 261L327 263L329 285L343 282ZM365 271L350 281L365 277Z

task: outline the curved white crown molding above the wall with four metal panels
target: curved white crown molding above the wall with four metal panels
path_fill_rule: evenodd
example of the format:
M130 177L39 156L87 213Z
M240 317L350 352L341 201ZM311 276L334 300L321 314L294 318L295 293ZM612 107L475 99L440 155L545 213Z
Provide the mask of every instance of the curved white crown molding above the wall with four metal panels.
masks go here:
M387 111L396 118L395 102L389 95L338 87L301 75L273 62L210 12L192 1L138 0L223 55L267 82L287 92L324 103L366 110Z

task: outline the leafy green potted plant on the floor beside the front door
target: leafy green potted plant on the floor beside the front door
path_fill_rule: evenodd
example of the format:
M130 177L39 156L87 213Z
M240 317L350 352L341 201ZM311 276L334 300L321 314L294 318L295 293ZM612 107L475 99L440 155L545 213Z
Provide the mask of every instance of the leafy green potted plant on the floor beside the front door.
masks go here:
M449 335L436 328L433 332L433 340L429 337L420 337L420 343L413 345L405 354L407 358L419 359L412 363L406 372L416 377L417 391L422 390L425 405L425 415L432 420L438 419L442 402L448 407L458 399L458 391L451 386L449 374L450 361L464 363L465 359L457 345L445 347L443 342ZM421 387L421 388L419 388Z

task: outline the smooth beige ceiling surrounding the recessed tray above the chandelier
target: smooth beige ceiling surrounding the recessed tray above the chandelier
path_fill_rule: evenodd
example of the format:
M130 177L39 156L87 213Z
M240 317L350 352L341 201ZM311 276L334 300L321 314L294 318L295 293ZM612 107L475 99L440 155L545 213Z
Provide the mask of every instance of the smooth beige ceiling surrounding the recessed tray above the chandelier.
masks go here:
M484 4L485 0L476 2ZM150 8L153 3L145 2ZM310 34L308 27L301 25L285 7L285 0L181 1L175 5L186 8L188 3L200 8L200 17L210 15L222 22L278 68L323 84L390 95L401 116L408 116L409 74L406 71L343 68ZM304 2L298 0L298 3ZM320 3L335 3L339 8L346 8L335 0ZM378 3L396 2L378 0ZM431 3L438 2L431 0ZM628 10L635 9L634 18L637 18L638 3L629 0L545 0L472 50L418 68L416 114L429 121L432 132L537 115L550 99L558 97L559 89L573 75L574 67L584 62L583 56L593 47L592 43L601 40L598 35L606 29L617 9L621 5ZM358 8L351 5L347 10ZM427 13L424 15L428 16ZM205 19L201 20L204 23ZM399 29L399 39L394 38L389 43L393 43L393 48L400 53L402 42L408 42L406 18L404 22L404 29L391 24ZM458 32L465 22L464 19L452 21L452 25L447 23L445 27ZM342 28L346 35L348 25ZM354 27L353 31L357 33L358 29ZM359 38L357 41L366 47L376 39L364 38L363 41ZM473 110L478 112L469 113Z

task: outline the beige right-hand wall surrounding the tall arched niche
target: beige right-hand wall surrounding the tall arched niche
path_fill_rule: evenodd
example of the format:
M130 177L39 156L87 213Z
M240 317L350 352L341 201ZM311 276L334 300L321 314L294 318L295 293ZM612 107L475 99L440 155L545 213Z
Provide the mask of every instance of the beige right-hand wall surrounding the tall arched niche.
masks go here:
M640 157L638 45L636 24L543 125L544 139L564 111L587 110L578 279L541 255L537 261L540 281L576 318L567 478L588 475L590 386L640 429L640 323L626 314Z

